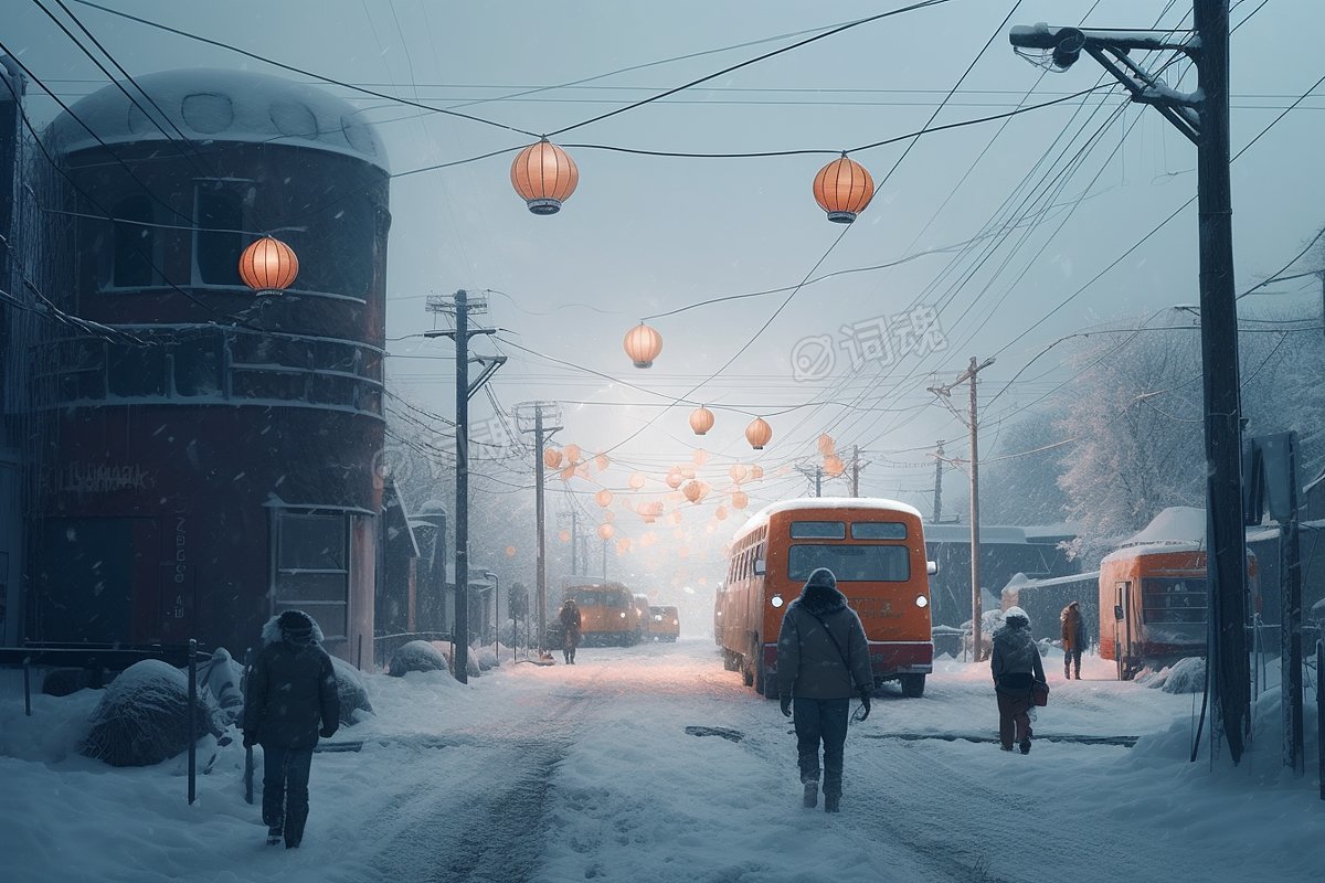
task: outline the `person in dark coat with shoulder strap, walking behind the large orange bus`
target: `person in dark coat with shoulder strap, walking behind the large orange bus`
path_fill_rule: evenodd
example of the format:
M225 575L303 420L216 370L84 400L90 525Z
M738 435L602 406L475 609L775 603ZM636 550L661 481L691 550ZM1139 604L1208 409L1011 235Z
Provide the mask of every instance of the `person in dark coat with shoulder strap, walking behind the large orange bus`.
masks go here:
M787 606L778 633L778 694L782 714L795 707L796 753L804 805L819 802L819 745L824 752L824 810L839 812L841 753L847 743L847 715L852 696L860 696L869 715L874 675L869 642L837 579L819 568L806 580L800 597Z

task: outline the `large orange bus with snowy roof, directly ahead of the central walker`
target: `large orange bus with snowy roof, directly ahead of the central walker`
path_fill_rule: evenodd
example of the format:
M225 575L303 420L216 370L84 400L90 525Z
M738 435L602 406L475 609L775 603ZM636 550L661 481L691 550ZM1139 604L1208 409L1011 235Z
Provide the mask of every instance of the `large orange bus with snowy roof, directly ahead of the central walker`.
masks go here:
M825 567L860 614L869 639L874 686L900 680L920 696L933 671L929 576L921 515L905 503L865 498L808 498L774 503L731 540L725 590L718 596L723 665L747 687L778 695L778 630L787 604L811 571Z

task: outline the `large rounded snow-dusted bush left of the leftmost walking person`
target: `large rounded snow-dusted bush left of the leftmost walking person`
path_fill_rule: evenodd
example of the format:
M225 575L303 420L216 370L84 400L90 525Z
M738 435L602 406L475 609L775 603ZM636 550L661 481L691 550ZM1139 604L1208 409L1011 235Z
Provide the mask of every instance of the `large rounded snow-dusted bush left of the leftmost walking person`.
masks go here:
M135 662L110 682L89 720L80 752L111 767L150 767L188 748L208 732L207 706L188 708L188 675L160 659Z

